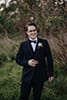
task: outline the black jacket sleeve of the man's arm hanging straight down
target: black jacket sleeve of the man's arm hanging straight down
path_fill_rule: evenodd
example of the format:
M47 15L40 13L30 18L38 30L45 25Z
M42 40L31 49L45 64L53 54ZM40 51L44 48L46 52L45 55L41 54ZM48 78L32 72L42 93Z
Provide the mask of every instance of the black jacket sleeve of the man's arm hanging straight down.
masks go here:
M53 76L53 59L52 59L51 50L47 40L46 40L46 61L47 61L48 77Z

